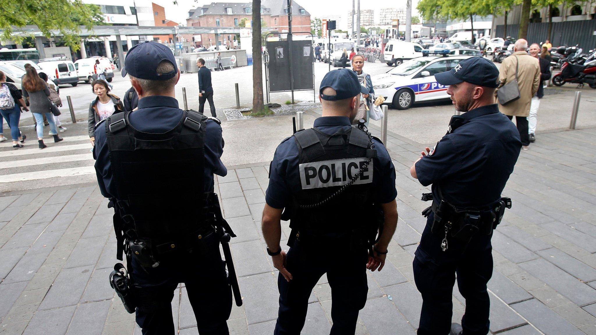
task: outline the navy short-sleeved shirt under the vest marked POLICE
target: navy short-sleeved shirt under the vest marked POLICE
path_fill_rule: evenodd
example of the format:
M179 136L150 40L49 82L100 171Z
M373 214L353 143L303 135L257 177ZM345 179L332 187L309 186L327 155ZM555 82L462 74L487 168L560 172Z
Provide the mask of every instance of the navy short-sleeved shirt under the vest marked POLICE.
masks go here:
M313 126L330 135L351 127L350 119L346 116L319 117ZM389 203L398 196L398 191L395 188L395 167L384 145L375 139L373 139L373 144L377 150L377 157L373 164L375 202ZM265 194L265 201L269 206L277 209L288 207L292 203L293 194L302 190L298 166L296 139L288 137L278 145L269 168L269 187Z

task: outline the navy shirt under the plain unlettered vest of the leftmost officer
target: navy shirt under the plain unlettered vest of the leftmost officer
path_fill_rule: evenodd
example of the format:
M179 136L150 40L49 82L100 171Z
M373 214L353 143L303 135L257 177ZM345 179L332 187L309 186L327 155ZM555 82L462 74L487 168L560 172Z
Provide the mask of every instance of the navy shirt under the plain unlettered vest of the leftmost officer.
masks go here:
M142 132L161 134L173 129L182 119L183 110L178 108L178 100L172 97L151 96L139 100L138 110L129 115L129 120L135 129ZM110 151L105 142L105 122L95 129L95 147L93 157L95 172L100 185L101 194L109 198L116 196L116 185L112 183L110 168ZM225 176L228 170L221 161L224 153L224 140L221 126L207 120L205 134L205 170L203 171L204 192L213 190L213 174ZM151 181L147 181L151 182ZM157 191L157 190L156 190Z

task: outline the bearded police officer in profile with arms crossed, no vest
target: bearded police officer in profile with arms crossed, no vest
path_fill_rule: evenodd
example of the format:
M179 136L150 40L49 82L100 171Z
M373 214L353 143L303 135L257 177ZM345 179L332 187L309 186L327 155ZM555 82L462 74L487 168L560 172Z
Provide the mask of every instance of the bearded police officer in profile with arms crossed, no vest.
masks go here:
M423 194L432 206L423 212L427 224L414 258L414 280L423 297L418 335L447 335L450 325L451 334L485 335L492 231L511 207L501 192L522 142L495 104L499 70L492 61L466 58L435 78L449 86L455 109L464 114L451 117L447 134L425 148L410 169L420 184L432 184L432 193ZM456 273L465 298L461 325L451 324Z

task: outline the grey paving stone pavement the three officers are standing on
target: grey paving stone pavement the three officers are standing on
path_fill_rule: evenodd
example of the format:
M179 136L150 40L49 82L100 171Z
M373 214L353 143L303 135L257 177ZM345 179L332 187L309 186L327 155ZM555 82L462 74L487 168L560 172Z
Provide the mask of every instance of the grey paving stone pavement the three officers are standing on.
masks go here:
M596 129L548 132L520 155L504 191L513 208L492 238L493 334L596 334L596 154L585 150L594 145ZM368 272L357 334L415 334L421 297L412 260L426 221L420 194L428 188L409 176L409 167L423 147L389 134L399 223L385 268ZM224 215L238 234L232 253L244 305L234 306L228 321L235 335L271 334L277 317L278 274L260 232L267 184L268 162L234 166L216 178ZM282 240L289 233L283 222ZM111 210L97 185L0 197L0 334L141 334L108 286L115 253ZM323 276L309 299L303 334L328 334L330 299ZM457 286L453 303L458 321L465 299ZM197 334L184 285L176 289L172 313L179 334Z

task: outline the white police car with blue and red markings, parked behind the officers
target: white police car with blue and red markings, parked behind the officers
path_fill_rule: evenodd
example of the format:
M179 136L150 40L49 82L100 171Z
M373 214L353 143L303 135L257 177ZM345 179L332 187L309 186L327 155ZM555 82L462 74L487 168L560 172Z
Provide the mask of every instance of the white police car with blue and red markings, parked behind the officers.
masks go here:
M400 110L415 102L448 99L447 86L440 85L434 75L453 69L470 55L449 55L449 50L431 54L423 50L423 57L413 58L383 75L372 76L375 95L383 95L387 103Z

